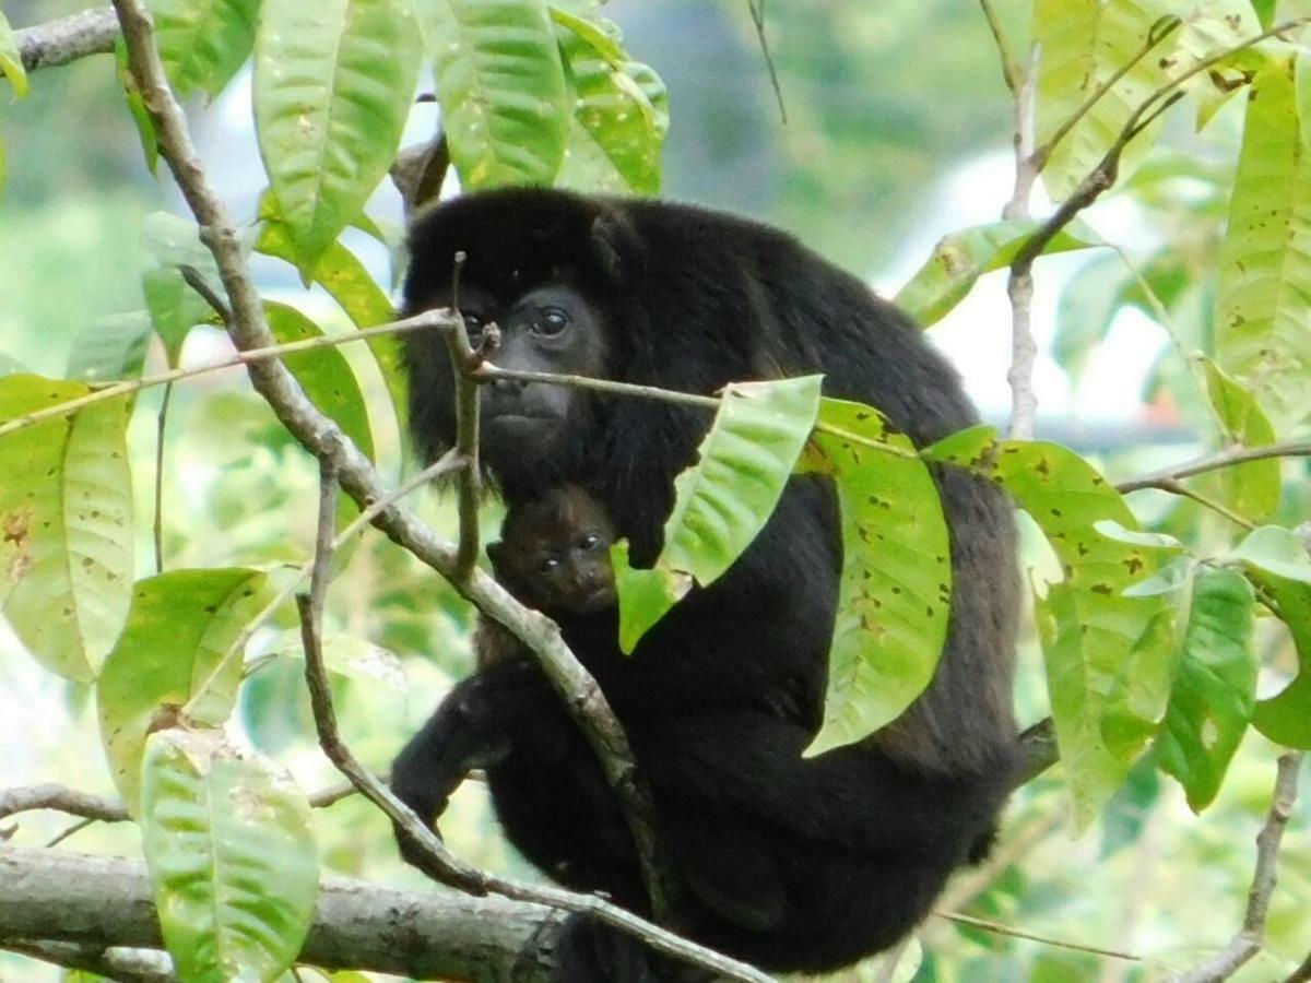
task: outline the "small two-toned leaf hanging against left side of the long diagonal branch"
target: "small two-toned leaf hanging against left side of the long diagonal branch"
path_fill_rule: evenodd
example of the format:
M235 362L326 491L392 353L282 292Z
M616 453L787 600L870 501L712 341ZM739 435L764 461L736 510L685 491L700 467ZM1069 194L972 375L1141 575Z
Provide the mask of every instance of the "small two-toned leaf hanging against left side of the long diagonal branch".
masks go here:
M193 267L222 296L219 267L214 254L201 242L195 223L176 215L161 211L147 215L142 241L156 263L142 274L146 307L151 312L155 332L164 342L168 363L176 367L182 354L182 342L191 328L218 321L218 313L182 279L178 267Z

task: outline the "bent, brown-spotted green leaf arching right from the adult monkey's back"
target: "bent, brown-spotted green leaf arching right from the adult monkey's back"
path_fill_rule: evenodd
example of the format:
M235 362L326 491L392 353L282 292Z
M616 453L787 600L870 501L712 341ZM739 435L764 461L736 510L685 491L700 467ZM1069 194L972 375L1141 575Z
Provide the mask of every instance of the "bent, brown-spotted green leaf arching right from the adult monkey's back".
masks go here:
M1046 535L1065 571L1038 603L1047 692L1076 824L1116 790L1151 737L1169 693L1172 611L1156 595L1126 596L1155 573L1156 549L1108 539L1097 524L1137 531L1120 494L1058 444L996 442L987 427L924 451L1003 486Z

